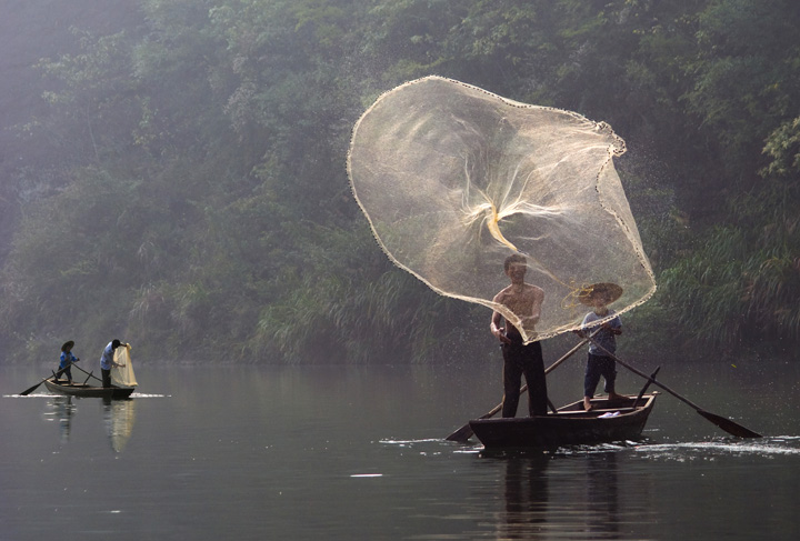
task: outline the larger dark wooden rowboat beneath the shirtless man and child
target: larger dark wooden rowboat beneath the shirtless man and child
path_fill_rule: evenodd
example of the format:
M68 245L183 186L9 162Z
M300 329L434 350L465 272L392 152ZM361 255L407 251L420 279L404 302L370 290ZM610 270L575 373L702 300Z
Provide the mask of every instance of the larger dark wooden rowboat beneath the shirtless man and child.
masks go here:
M554 413L513 419L477 419L469 422L486 449L542 448L636 440L641 435L658 392L620 400L592 399L559 408Z

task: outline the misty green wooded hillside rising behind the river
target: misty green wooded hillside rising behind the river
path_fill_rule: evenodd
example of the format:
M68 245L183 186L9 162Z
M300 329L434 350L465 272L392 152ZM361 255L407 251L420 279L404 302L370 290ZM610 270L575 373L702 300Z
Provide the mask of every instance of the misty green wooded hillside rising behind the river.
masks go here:
M91 3L91 0L83 0ZM642 340L800 341L794 0L139 0L36 69L1 277L13 358L118 335L159 358L450 359L489 313L393 268L350 130L431 73L606 120L662 285Z

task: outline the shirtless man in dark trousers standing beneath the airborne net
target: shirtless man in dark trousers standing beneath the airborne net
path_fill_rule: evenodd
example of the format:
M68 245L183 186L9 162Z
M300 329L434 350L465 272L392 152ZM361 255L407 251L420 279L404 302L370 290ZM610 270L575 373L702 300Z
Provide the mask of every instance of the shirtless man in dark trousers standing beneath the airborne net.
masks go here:
M526 283L528 261L519 253L506 258L503 271L511 284L494 295L493 301L519 315L521 324L530 334L541 315L544 290ZM511 418L517 414L522 374L528 383L528 413L531 417L546 415L548 398L541 344L538 341L523 343L519 329L508 320L503 327L502 319L500 312L493 312L489 327L492 335L500 341L503 355L502 417Z

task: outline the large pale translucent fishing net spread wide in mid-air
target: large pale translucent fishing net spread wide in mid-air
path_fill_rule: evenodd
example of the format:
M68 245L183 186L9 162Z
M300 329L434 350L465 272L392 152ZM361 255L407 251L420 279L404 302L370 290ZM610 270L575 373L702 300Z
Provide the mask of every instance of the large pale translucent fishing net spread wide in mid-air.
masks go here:
M580 328L592 284L624 312L656 290L604 122L427 77L382 94L356 123L353 194L389 258L438 293L499 311L526 342ZM503 261L543 289L536 328L492 301Z

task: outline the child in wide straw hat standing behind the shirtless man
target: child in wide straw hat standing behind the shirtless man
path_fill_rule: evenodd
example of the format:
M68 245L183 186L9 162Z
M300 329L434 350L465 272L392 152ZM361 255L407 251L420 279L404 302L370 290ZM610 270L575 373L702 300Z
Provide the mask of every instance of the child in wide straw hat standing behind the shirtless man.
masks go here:
M622 334L622 321L617 312L608 308L622 295L622 288L616 283L596 283L586 289L579 295L581 303L592 307L594 310L587 313L581 323L581 329L574 331L581 338L586 338L593 329L598 327L597 321L606 320L600 323L600 331L594 334L592 343L589 345L589 357L587 359L586 374L583 378L583 409L589 411L592 409L591 399L594 397L594 390L600 382L600 377L606 380L604 390L609 395L609 400L619 400L622 397L617 394L614 390L614 381L617 380L617 367L614 360L606 354L597 343L602 345L607 351L613 354L617 350L618 334ZM610 318L610 319L609 319Z

